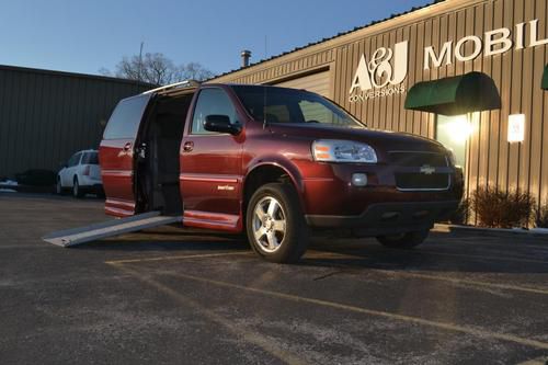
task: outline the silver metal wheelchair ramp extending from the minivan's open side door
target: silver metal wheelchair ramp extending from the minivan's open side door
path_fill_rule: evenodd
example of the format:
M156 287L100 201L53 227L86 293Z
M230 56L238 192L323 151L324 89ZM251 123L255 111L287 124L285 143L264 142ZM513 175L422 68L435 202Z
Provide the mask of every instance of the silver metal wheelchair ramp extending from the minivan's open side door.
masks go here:
M44 236L46 242L60 247L72 247L106 237L182 221L181 216L162 216L160 212L148 212L136 216L113 219L85 227L59 230Z

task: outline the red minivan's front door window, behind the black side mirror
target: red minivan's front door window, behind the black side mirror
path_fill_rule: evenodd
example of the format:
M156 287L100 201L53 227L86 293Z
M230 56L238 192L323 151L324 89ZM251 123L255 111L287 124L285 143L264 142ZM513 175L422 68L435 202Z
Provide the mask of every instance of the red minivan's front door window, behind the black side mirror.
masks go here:
M192 118L192 134L216 134L204 128L204 123L208 115L227 115L230 118L230 123L237 123L236 109L230 98L221 89L204 89L199 92Z

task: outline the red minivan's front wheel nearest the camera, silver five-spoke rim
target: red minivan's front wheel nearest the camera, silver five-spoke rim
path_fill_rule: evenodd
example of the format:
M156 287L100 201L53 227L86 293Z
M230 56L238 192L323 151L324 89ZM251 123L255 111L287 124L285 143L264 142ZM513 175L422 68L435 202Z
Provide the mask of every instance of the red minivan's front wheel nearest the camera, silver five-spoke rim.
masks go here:
M248 204L246 228L253 251L270 262L297 262L308 247L308 226L289 184L259 187Z

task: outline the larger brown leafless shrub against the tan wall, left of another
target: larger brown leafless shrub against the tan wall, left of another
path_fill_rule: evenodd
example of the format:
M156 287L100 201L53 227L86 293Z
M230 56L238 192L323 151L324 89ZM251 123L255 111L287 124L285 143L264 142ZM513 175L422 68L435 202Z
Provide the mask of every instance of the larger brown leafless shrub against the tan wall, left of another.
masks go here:
M535 198L520 191L501 192L480 187L471 197L479 226L512 228L527 226Z

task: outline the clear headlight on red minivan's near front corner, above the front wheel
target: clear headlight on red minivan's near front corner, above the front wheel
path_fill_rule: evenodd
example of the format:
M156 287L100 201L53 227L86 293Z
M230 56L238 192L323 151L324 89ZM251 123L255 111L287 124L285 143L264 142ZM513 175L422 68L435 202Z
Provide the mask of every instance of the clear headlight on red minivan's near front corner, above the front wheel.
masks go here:
M352 140L315 140L312 156L316 161L377 163L373 147Z

